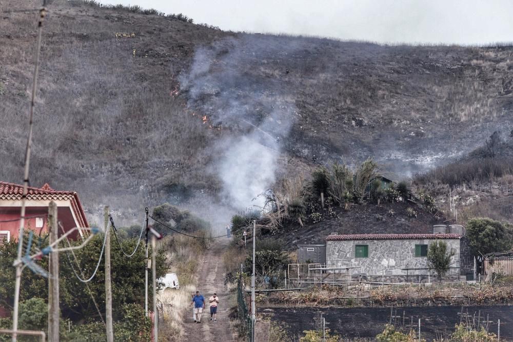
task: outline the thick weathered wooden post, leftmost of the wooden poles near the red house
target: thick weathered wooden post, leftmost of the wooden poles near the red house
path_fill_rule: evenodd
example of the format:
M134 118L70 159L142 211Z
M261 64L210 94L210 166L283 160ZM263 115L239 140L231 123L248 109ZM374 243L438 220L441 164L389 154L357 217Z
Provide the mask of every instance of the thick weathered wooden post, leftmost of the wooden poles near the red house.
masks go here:
M58 239L57 205L53 200L48 207L50 246ZM48 340L59 340L59 252L53 249L48 260Z

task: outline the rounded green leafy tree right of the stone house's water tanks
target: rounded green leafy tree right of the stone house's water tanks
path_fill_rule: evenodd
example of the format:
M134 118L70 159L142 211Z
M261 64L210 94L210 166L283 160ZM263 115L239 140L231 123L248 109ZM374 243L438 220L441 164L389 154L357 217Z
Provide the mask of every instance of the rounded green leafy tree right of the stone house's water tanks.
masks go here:
M511 248L511 230L499 221L476 217L466 226L469 245L474 254L503 252Z

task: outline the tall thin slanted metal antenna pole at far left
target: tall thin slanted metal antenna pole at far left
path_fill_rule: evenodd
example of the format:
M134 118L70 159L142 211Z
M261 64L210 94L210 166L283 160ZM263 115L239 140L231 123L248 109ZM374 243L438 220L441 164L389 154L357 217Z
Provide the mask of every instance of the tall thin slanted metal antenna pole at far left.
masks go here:
M22 246L23 246L23 230L25 226L25 200L27 199L28 186L29 186L29 168L30 168L30 149L32 147L32 118L34 116L35 106L35 92L37 89L37 74L39 72L39 57L41 53L41 36L43 33L43 19L46 16L46 8L40 10L40 18L37 24L37 48L35 55L35 68L34 78L32 82L32 98L30 100L29 111L29 135L27 138L27 149L25 150L25 171L23 175L23 193L22 193L22 210L21 219L19 220L19 233L18 233L18 255L16 257L16 281L14 285L14 308L12 315L12 342L16 342L18 330L18 306L19 306L19 288L22 281Z

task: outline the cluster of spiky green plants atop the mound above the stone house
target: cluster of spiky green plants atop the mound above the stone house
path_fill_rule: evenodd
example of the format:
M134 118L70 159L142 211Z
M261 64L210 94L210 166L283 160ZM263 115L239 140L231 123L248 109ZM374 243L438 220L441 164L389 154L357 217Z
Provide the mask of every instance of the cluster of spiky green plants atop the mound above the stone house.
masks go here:
M349 210L351 203L363 201L380 205L404 200L411 193L405 182L398 185L385 183L379 174L378 164L368 158L354 171L346 165L333 163L314 169L310 180L305 180L302 175L286 178L262 196L265 205L259 223L275 233L287 222L295 221L303 227L305 222L315 224L325 217L337 217L334 207ZM434 208L431 197L425 205L426 208ZM408 213L411 216L417 214L412 209ZM232 221L240 223L236 228L248 224L248 219L241 214L234 215Z

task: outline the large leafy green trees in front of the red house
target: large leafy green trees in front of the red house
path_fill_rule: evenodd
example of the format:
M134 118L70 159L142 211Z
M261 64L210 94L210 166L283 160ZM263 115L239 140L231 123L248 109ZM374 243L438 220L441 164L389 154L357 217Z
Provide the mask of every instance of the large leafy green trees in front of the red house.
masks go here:
M84 248L74 251L80 267L75 264L71 253L60 253L60 297L61 310L65 318L71 318L72 320L86 319L89 321L99 319L96 308L91 300L91 294L85 284L75 277L73 269L78 275L80 275L79 270L82 270L84 276L88 278L96 268L103 239L104 235L98 234ZM71 242L73 245L81 243L81 241ZM122 315L121 308L125 304L136 303L144 305L145 251L144 244L141 243L135 254L131 258L127 258L117 247L114 238L111 239L111 243L112 307L114 318L119 319ZM123 250L131 252L137 244L137 238L123 239L120 241L120 244ZM17 255L16 247L17 242L14 241L0 247L0 254L2 255L0 258L0 268L2 269L2 272L0 272L0 284L2 284L0 287L0 305L6 308L12 308L14 300L15 269L12 267L12 263ZM160 278L167 270L163 251L157 253L156 261L156 275L157 278ZM37 261L37 264L44 269L48 269L48 258ZM71 265L73 268L71 268ZM105 263L103 259L95 277L88 285L100 310L102 310L105 307ZM149 291L148 295L151 301L151 291ZM22 274L20 301L33 297L42 298L45 301L48 300L48 279L34 274L29 269L25 269Z

